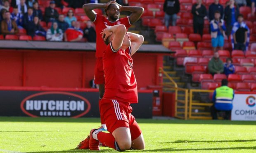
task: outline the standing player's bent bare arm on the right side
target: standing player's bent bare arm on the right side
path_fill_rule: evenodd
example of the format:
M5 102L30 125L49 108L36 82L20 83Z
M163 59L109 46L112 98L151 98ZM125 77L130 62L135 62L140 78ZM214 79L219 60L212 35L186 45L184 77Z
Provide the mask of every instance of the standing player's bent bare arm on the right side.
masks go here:
M130 24L133 24L136 21L138 21L140 19L140 16L144 12L143 7L136 7L136 6L121 6L120 9L121 9L121 11L132 12L132 14L130 14L130 18L129 18Z

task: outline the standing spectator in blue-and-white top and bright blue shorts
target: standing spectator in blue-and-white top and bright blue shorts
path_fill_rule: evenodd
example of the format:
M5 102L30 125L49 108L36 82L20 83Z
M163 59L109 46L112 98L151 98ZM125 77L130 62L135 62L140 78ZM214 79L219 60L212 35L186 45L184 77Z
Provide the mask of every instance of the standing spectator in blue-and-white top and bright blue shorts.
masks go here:
M217 47L220 47L220 50L223 50L226 27L224 20L220 19L219 11L215 12L214 20L211 21L210 27L211 45L213 46L213 50L216 51Z

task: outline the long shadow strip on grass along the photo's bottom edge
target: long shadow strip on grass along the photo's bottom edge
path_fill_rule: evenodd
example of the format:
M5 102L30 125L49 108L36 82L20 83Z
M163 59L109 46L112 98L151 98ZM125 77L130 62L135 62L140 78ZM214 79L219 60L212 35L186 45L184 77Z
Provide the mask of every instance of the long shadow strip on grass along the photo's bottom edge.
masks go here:
M175 148L161 148L161 149L149 149L149 150L133 150L128 152L172 152L172 151L216 151L216 150L251 150L256 149L256 146L254 147L230 147L230 148L187 148L187 149L175 149ZM113 149L106 149L102 150L100 152L110 152L114 151ZM45 152L29 152L29 153L92 153L95 151L89 151L89 150L66 150L66 151L45 151ZM99 151L97 151L99 152ZM126 151L127 152L127 151Z

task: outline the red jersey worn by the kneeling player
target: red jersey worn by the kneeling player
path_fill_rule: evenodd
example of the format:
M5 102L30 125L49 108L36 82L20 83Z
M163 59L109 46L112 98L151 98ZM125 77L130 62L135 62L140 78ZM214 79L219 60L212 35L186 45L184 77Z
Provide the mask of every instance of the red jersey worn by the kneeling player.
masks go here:
M137 82L133 73L131 48L114 51L111 43L103 53L104 98L119 102L138 102Z

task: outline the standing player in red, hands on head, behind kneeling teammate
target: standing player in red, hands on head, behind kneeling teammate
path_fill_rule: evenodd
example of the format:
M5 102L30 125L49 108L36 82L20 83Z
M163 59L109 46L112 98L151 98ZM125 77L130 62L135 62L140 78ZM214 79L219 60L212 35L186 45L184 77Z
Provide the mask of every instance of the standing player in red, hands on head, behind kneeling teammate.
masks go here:
M83 9L85 10L86 15L92 20L96 27L96 65L95 65L95 75L94 75L94 81L95 84L99 85L100 90L100 100L102 99L104 95L104 71L103 71L103 62L102 62L102 56L103 51L105 51L107 45L104 43L101 32L106 28L107 26L114 26L123 24L126 26L126 29L128 29L131 24L135 23L138 19L140 19L140 16L144 12L144 9L142 7L130 7L130 6L121 6L118 3L115 2L115 0L110 1L106 4L85 4L83 5ZM107 18L105 16L96 14L93 9L105 9ZM119 19L119 15L121 11L128 11L131 12L130 16L124 17ZM99 103L100 103L99 100ZM101 123L102 126L100 127L101 130L107 130L106 125L104 124L104 121L102 120L102 114L101 116Z

